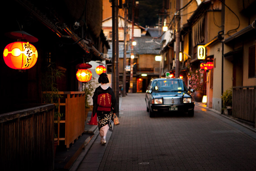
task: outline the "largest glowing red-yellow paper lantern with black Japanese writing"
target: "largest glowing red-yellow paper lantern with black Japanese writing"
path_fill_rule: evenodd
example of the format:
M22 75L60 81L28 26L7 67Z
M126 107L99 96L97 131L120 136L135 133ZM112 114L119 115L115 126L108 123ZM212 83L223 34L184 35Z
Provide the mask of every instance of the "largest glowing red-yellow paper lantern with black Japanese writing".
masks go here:
M29 42L16 41L4 49L4 61L12 69L29 69L37 61L37 50Z

